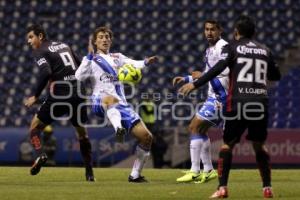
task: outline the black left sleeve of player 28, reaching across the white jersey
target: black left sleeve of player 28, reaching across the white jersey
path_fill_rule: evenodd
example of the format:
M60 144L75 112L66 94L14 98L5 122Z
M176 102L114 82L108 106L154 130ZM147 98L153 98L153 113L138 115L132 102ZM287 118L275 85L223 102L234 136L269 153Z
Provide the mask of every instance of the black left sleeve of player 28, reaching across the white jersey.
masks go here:
M200 87L210 81L211 79L218 76L221 72L223 72L227 66L230 65L230 62L233 60L234 53L231 50L230 45L225 45L222 49L222 53L220 55L219 61L209 70L207 71L203 76L201 76L199 79L197 79L194 82L194 86Z

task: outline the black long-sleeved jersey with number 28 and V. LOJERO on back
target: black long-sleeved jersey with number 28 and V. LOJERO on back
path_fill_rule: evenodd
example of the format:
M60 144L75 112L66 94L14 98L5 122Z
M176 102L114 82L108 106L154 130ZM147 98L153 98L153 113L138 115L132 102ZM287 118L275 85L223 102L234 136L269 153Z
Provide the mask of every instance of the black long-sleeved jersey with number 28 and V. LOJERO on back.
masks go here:
M271 51L255 40L242 38L224 46L221 60L203 77L194 82L196 87L229 67L229 90L226 102L228 112L238 106L268 103L267 80L280 79L280 71ZM256 106L255 106L256 107Z

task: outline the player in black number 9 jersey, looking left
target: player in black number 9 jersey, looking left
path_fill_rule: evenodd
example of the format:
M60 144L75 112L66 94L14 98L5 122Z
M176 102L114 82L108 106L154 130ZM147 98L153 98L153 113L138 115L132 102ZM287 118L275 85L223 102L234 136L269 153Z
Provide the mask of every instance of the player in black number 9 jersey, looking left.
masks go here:
M40 25L34 24L28 27L27 42L34 50L34 59L40 71L34 95L25 100L25 106L31 107L36 103L48 81L51 82L48 98L34 115L30 125L31 143L38 154L30 173L38 174L47 161L41 143L41 132L55 120L54 118L68 114L71 116L72 125L79 139L86 180L94 181L91 143L86 129L79 125L87 121L86 109L83 107L78 110L78 106L84 102L84 99L76 92L79 86L74 76L80 60L67 44L49 41L45 30Z

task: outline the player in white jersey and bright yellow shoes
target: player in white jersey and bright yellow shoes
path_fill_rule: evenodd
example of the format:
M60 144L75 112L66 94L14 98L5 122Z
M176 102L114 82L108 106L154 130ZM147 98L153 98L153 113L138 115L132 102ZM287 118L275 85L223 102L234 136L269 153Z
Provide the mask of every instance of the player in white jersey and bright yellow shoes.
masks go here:
M204 35L209 44L205 55L206 72L220 60L222 48L227 42L221 38L222 28L217 21L207 20L204 26ZM212 165L211 144L207 131L221 121L219 114L221 109L225 108L229 84L228 74L229 69L226 68L209 82L208 97L189 125L191 169L184 176L178 178L177 182L204 183L217 177ZM199 71L193 72L192 76L178 76L173 79L173 85L180 82L193 82L200 76L201 72ZM203 163L203 173L200 172L200 161Z

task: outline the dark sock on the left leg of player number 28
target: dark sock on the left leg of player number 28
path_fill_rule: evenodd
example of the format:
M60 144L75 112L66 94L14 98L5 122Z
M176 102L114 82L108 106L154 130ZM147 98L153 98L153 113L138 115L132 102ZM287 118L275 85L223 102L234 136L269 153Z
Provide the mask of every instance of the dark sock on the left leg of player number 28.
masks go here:
M232 151L230 149L221 149L218 160L219 187L227 186L231 161Z

